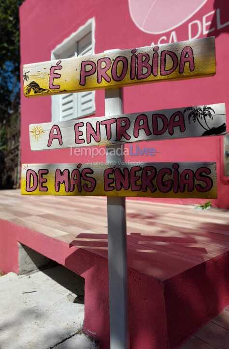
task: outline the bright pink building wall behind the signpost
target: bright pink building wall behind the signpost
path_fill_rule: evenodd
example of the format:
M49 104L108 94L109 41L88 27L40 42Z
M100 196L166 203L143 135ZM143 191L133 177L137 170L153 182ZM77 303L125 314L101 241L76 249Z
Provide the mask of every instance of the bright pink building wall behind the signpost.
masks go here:
M164 2L167 3L164 5ZM190 3L189 3L190 2ZM140 4L136 6L136 4ZM95 53L112 48L150 46L189 38L215 36L216 75L145 84L124 88L124 112L179 108L226 103L229 110L229 11L228 0L26 0L20 8L21 63L49 61L51 50L72 32L95 18ZM185 7L183 8L182 6ZM151 11L149 11L151 8ZM158 20L159 18L159 20ZM179 25L179 23L182 23ZM161 32L155 34L154 32ZM71 163L92 159L71 156L70 149L32 152L29 124L51 121L51 97L27 99L21 95L22 163ZM104 90L96 92L95 116L104 115ZM228 118L227 118L228 119ZM138 143L145 146L144 142ZM128 145L127 145L128 146ZM135 143L136 146L136 143ZM229 181L222 178L220 137L147 142L157 150L155 157L126 157L128 161L216 161L218 199L213 203L229 208ZM105 160L96 158L94 161ZM200 203L192 199L143 199L171 203Z

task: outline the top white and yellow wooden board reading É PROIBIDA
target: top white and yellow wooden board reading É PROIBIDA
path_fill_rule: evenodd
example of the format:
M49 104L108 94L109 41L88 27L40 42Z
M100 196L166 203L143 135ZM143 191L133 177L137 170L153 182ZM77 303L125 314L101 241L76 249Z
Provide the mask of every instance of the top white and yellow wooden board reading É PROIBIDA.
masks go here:
M214 37L23 66L26 97L214 74Z

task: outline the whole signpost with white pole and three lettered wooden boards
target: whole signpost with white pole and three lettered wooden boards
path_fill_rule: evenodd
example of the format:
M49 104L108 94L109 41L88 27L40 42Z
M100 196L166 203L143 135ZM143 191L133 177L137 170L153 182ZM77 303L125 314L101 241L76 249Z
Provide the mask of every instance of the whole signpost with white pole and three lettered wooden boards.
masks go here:
M22 194L105 195L111 349L128 349L126 196L216 198L215 163L125 163L122 143L226 133L225 105L123 114L123 86L215 74L215 38L24 65L24 95L105 88L105 116L29 126L32 150L106 145L105 164L23 164ZM120 152L115 152L120 154Z

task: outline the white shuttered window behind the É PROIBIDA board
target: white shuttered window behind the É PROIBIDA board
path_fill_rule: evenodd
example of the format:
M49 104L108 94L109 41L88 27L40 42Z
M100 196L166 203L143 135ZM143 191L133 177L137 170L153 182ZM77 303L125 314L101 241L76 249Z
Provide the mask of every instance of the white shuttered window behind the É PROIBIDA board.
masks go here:
M94 54L94 18L72 33L51 54L52 60ZM52 96L52 121L65 121L91 115L95 112L95 91Z

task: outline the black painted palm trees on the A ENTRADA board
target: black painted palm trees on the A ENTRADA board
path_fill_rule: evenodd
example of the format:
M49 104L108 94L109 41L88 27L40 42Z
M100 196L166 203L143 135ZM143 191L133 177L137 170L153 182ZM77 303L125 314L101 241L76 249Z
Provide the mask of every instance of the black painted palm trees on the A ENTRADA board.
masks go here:
M211 120L213 120L213 112L215 113L214 109L211 107L207 107L206 105L203 106L203 109L198 107L198 108L193 108L193 107L188 107L184 110L184 113L186 111L190 111L188 114L188 121L190 124L190 120L195 123L196 121L200 124L202 128L204 128L206 131L210 130L210 127L208 126L207 123L207 118L209 117ZM206 128L207 127L207 128Z

